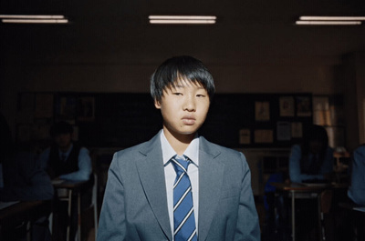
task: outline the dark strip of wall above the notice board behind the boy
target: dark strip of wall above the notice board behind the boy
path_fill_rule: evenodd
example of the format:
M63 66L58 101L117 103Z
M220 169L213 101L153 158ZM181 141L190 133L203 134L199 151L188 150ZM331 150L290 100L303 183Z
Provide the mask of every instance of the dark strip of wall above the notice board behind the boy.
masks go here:
M20 91L149 92L155 65L2 65L0 110L15 122ZM332 65L208 65L218 93L341 93ZM14 127L14 126L12 126Z

